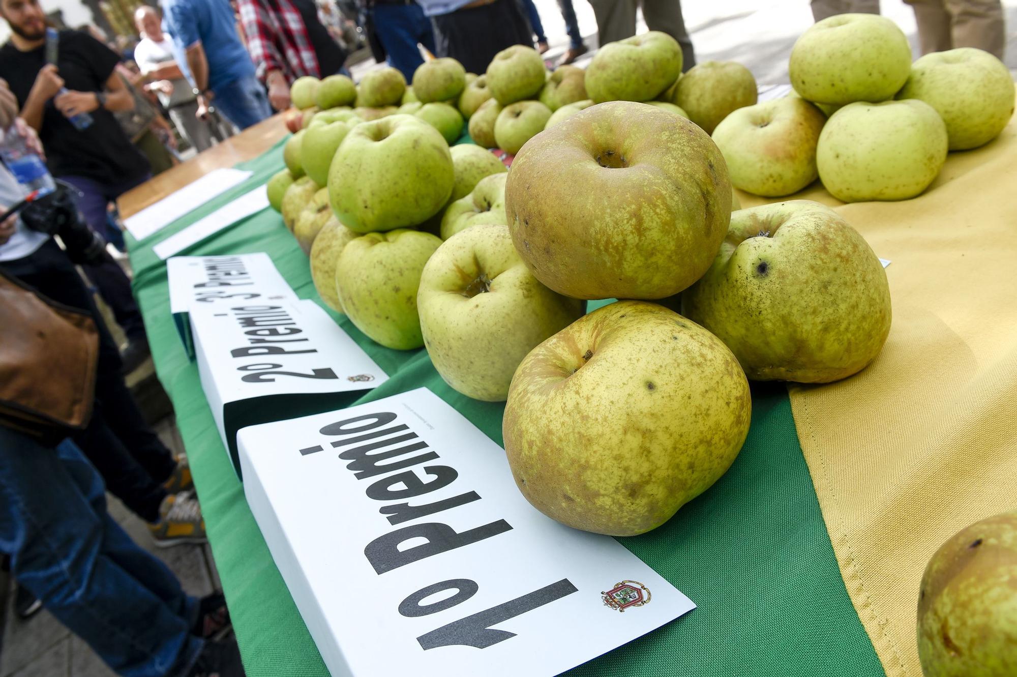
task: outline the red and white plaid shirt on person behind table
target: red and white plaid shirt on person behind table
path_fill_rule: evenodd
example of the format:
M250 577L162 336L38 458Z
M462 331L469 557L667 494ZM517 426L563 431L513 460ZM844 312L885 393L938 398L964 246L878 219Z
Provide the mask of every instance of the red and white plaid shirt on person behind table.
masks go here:
M290 0L237 0L237 8L258 79L273 70L283 71L291 84L302 75L320 75L304 20Z

